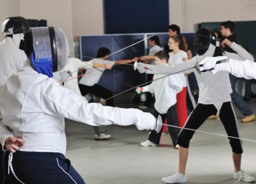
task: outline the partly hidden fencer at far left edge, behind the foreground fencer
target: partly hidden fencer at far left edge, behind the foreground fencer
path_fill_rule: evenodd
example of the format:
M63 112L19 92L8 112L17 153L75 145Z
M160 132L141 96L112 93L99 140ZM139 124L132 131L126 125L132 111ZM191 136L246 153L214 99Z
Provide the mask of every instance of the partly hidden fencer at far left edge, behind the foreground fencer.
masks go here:
M20 40L28 30L29 24L24 17L7 17L3 21L1 31L5 34L5 38L0 42L0 89L7 78L16 73L26 61L26 54L19 49L19 46ZM0 165L3 165L2 149L0 149ZM0 169L0 183L3 183L3 169Z

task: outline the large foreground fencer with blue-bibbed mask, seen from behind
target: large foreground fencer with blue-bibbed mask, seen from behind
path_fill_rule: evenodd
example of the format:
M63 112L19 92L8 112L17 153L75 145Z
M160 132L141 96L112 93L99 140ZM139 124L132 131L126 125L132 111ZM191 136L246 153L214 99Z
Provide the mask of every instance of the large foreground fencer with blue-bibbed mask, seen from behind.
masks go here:
M135 124L139 130L155 130L156 118L150 113L88 103L51 78L67 62L67 38L61 29L31 28L22 47L28 60L0 91L5 182L84 183L65 158L65 118L92 126Z

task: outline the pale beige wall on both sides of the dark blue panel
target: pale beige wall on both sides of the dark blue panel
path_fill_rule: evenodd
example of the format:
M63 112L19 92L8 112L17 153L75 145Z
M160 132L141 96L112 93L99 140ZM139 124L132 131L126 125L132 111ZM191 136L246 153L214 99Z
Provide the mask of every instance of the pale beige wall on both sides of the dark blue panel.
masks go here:
M0 0L0 21L7 16L47 19L59 26L69 42L79 35L104 34L103 0ZM256 19L256 0L169 0L170 24L194 32L203 21ZM3 34L0 34L3 38Z

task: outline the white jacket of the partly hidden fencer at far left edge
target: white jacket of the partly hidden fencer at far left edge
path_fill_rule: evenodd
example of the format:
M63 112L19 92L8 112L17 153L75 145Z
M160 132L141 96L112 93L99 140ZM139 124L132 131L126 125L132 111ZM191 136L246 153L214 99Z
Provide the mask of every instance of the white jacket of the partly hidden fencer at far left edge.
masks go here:
M26 58L25 52L15 45L12 38L6 37L0 42L0 86L20 69Z

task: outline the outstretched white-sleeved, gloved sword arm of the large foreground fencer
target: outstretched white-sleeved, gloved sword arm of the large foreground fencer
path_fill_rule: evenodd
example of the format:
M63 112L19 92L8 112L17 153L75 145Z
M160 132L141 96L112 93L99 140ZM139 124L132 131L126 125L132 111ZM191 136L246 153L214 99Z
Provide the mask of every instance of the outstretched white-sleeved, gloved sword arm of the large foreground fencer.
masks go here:
M53 116L62 116L92 126L117 124L135 125L139 130L156 130L156 118L151 113L139 109L123 109L88 103L80 95L57 85L56 81L46 81L42 91L42 111Z

